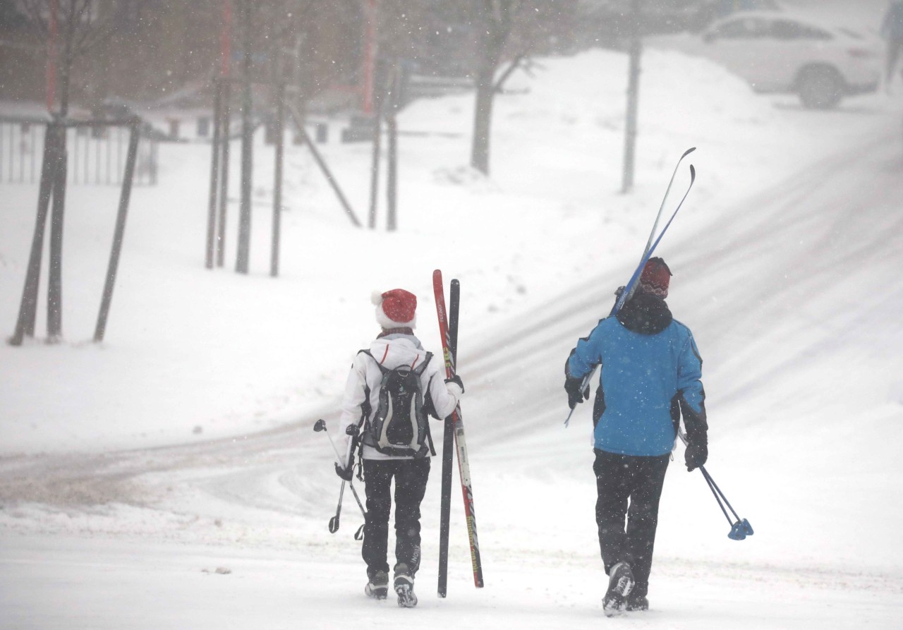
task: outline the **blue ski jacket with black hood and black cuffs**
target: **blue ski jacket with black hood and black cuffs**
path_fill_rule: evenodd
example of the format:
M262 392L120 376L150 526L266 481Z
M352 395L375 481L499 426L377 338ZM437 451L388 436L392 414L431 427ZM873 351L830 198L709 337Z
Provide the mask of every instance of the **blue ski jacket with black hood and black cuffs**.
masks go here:
M690 440L706 441L703 359L693 333L665 301L638 292L616 317L600 320L573 348L568 379L601 374L592 419L596 449L664 455L674 448L683 412Z

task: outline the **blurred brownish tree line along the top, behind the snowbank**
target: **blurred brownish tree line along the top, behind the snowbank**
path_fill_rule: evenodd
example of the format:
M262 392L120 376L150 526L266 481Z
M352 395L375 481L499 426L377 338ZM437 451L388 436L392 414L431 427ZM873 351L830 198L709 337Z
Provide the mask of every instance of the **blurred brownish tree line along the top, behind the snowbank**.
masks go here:
M470 164L488 173L494 97L531 56L633 46L638 68L638 34L699 26L726 1L0 0L0 98L46 97L63 115L70 101L207 106L229 68L285 81L302 111L327 89L359 107L377 64L404 66L472 80Z

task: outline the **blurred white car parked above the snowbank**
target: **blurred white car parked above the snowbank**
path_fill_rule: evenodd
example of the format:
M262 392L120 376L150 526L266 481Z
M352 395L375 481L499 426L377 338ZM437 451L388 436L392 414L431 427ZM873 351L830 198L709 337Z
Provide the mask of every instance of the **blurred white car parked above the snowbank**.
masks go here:
M805 107L834 107L845 95L875 91L880 81L876 38L784 12L732 14L701 33L649 37L647 44L708 57L756 91L798 94Z

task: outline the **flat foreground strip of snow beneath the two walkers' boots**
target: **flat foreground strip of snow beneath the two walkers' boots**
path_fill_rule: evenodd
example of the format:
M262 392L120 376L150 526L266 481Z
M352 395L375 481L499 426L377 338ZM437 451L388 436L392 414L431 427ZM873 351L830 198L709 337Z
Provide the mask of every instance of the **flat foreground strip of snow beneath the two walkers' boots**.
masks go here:
M659 562L656 605L601 616L591 562L493 562L477 591L460 580L441 600L420 574L420 604L405 610L360 589L359 562L312 550L14 537L0 558L4 628L870 628L898 627L900 592L868 575ZM40 560L36 560L40 558ZM467 570L452 563L452 570ZM217 570L224 571L218 573ZM225 572L225 571L228 571ZM350 579L354 576L357 579ZM353 586L352 586L353 585ZM40 588L40 598L35 597ZM40 600L39 600L40 599Z

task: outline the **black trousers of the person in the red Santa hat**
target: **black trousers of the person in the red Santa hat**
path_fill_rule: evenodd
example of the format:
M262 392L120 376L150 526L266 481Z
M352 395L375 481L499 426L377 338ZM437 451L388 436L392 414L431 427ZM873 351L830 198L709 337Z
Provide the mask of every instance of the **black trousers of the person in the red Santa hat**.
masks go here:
M395 477L396 562L404 562L414 573L420 567L420 502L430 477L430 459L364 459L367 491L367 522L361 555L367 562L367 575L378 570L388 573L389 512L392 495L389 485Z

